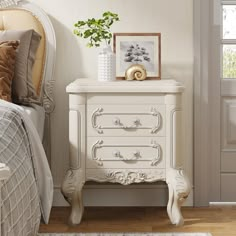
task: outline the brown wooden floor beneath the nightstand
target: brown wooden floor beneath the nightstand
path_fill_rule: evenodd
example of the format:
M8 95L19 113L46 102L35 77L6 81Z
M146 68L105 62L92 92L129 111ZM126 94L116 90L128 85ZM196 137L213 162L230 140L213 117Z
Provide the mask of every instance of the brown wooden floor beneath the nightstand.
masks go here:
M182 208L185 225L171 225L165 208L89 207L78 226L67 225L69 208L53 208L40 232L210 232L236 236L236 208Z

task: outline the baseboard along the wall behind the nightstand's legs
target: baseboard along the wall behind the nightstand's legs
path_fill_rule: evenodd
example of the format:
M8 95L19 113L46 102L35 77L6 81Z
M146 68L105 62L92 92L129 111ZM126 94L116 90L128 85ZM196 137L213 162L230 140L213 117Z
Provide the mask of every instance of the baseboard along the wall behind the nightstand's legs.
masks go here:
M85 206L166 206L167 186L163 184L120 186L113 184L86 185L83 189ZM191 191L185 206L193 206ZM53 206L68 206L60 187L54 187Z

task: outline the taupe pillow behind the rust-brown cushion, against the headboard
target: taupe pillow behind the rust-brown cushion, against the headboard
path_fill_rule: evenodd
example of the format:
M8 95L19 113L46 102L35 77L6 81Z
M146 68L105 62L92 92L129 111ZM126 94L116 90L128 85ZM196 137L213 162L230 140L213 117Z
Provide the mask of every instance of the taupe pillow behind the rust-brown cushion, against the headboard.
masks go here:
M0 42L6 40L18 40L20 42L12 81L13 102L17 104L39 104L32 82L32 69L41 36L33 29L0 31Z

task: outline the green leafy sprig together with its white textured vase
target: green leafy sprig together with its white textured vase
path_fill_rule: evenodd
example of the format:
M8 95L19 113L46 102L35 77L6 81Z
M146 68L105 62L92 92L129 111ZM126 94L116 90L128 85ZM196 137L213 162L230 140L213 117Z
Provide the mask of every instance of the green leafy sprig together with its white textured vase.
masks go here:
M115 57L111 50L112 33L110 31L114 22L119 21L118 14L106 11L100 19L88 19L74 24L74 34L88 39L87 47L105 47L98 55L98 80L110 81L115 79Z

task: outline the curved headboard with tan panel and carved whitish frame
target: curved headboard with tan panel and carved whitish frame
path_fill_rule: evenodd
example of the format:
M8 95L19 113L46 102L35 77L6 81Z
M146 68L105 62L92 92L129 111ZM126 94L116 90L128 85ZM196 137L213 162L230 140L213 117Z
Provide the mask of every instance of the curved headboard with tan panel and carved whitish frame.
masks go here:
M9 29L34 29L41 35L32 79L45 111L52 112L56 38L49 17L37 5L21 1L17 6L0 9L0 30Z

